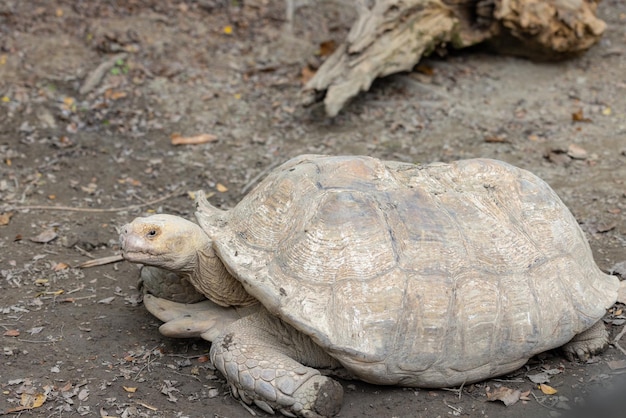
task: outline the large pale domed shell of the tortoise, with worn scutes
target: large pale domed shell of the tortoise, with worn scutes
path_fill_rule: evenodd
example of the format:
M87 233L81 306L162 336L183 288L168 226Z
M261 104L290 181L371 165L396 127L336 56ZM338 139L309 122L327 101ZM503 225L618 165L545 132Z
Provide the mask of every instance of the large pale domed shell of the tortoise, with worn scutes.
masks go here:
M371 383L506 373L615 302L556 193L500 161L305 155L196 216L250 294Z

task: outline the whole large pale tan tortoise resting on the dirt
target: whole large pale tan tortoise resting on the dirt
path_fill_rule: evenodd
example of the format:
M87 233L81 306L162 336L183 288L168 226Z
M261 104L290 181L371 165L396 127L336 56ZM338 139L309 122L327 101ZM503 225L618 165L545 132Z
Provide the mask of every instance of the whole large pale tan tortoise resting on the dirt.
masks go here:
M196 205L199 225L125 225L123 256L206 296L144 302L163 334L212 341L232 393L267 412L337 414L333 373L451 387L556 347L584 359L607 346L619 279L557 194L507 163L304 155L231 210L202 193Z

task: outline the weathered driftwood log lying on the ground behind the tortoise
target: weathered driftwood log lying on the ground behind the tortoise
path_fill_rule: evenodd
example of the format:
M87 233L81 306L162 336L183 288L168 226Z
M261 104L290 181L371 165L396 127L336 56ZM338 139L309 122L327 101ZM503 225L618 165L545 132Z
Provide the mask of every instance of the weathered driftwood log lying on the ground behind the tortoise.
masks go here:
M596 17L598 2L360 0L356 23L304 87L303 104L323 99L326 113L335 116L375 78L410 71L442 47L486 43L497 52L543 60L581 53L606 28Z

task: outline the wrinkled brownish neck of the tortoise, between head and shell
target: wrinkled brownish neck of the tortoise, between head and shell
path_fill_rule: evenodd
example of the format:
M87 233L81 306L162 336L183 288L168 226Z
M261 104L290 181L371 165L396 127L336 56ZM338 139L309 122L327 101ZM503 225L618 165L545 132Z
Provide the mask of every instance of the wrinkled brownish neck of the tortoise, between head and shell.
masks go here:
M221 306L250 306L258 301L228 272L211 245L198 252L198 266L189 281L207 298Z

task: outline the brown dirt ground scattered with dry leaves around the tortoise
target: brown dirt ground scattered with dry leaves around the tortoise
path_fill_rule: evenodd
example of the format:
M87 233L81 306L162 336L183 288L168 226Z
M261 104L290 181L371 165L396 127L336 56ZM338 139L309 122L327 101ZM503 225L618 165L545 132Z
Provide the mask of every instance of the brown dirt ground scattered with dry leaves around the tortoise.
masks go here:
M232 207L302 153L529 169L571 208L599 266L626 276L626 3L600 4L606 34L579 58L454 52L376 82L334 119L298 93L320 44L345 36L350 2L303 6L292 31L283 1L240 3L0 2L0 415L248 416L209 343L158 333L136 266L76 266L116 254L116 227L135 216L191 217L198 189ZM214 138L171 143L201 134ZM612 337L622 308L607 314ZM555 394L530 380L541 372ZM344 381L341 416L591 416L590 403L618 416L618 397L603 396L623 393L625 373L612 346L587 364L545 353L460 390ZM528 400L487 402L498 387Z

